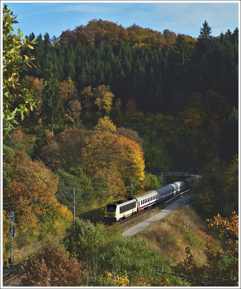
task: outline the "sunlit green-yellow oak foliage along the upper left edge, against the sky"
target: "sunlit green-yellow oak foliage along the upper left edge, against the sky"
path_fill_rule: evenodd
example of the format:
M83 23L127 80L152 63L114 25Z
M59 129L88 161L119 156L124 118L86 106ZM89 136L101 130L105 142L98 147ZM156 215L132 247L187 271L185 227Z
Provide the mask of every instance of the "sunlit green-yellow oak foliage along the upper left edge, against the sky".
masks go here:
M13 24L18 23L17 16L11 12L12 8L5 4L3 8L3 137L18 124L18 115L23 120L29 115L29 110L36 107L33 93L28 89L22 89L21 94L14 93L19 84L19 72L30 66L33 57L22 56L24 48L33 49L35 41L28 38L22 40L23 34L17 29L17 35L13 34Z

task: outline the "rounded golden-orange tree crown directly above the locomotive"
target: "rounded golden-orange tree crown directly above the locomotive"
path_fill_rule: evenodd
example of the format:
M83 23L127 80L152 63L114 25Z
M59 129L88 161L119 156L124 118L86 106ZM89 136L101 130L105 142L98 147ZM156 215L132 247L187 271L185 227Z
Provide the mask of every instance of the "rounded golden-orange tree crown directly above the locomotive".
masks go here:
M143 152L139 145L125 137L103 132L85 138L82 148L82 165L91 174L103 162L113 162L121 173L124 183L130 179L136 185L144 180Z

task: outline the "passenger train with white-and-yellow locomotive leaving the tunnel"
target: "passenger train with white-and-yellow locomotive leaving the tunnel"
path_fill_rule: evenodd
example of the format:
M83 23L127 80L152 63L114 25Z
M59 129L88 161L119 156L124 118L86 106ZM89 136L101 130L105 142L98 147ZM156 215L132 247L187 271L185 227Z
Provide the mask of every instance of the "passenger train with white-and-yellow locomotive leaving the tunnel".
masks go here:
M158 202L165 202L171 197L191 189L193 183L194 177L190 176L187 179L162 186L155 190L150 190L133 197L127 197L124 200L118 200L114 203L107 204L105 206L105 218L114 219L116 222L121 221Z

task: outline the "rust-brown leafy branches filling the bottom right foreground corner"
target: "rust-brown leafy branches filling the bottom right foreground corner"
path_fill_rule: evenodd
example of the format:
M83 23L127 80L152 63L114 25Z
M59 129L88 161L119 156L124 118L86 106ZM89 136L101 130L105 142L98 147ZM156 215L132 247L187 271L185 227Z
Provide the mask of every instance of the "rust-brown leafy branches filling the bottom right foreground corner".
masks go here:
M219 237L228 246L227 250L213 249L208 237L204 251L207 258L205 265L199 267L190 248L187 247L186 258L176 266L170 266L171 272L157 271L180 277L191 286L238 286L238 216L235 212L230 218L217 215L209 220L208 227L207 233L214 229L220 232Z

